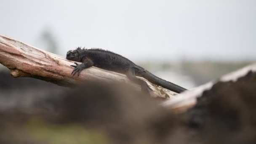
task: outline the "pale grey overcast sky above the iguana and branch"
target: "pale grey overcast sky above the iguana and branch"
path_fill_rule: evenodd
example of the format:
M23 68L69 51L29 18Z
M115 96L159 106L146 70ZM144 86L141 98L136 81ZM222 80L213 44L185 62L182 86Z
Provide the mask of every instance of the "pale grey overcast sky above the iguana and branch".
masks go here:
M256 0L0 0L0 34L59 54L104 48L133 61L256 59Z

